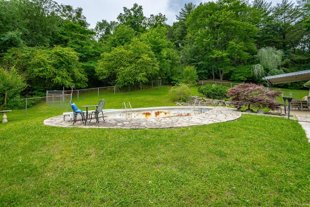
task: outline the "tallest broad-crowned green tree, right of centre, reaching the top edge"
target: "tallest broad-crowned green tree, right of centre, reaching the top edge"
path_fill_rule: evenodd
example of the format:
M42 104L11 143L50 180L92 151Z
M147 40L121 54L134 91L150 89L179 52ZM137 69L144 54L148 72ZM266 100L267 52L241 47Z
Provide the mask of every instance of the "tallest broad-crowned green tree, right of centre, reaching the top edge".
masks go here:
M239 0L219 0L200 4L186 20L187 38L194 39L204 52L207 68L225 74L247 64L256 52L255 39L260 21L254 8ZM206 61L209 59L210 61Z

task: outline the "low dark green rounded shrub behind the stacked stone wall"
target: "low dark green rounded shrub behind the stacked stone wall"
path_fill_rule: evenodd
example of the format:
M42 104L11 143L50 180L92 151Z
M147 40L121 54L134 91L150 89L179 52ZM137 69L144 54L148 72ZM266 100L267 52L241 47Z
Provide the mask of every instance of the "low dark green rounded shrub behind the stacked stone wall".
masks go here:
M223 99L227 98L228 88L223 85L215 85L215 84L206 84L199 86L198 92L203 94L204 96L212 99Z

